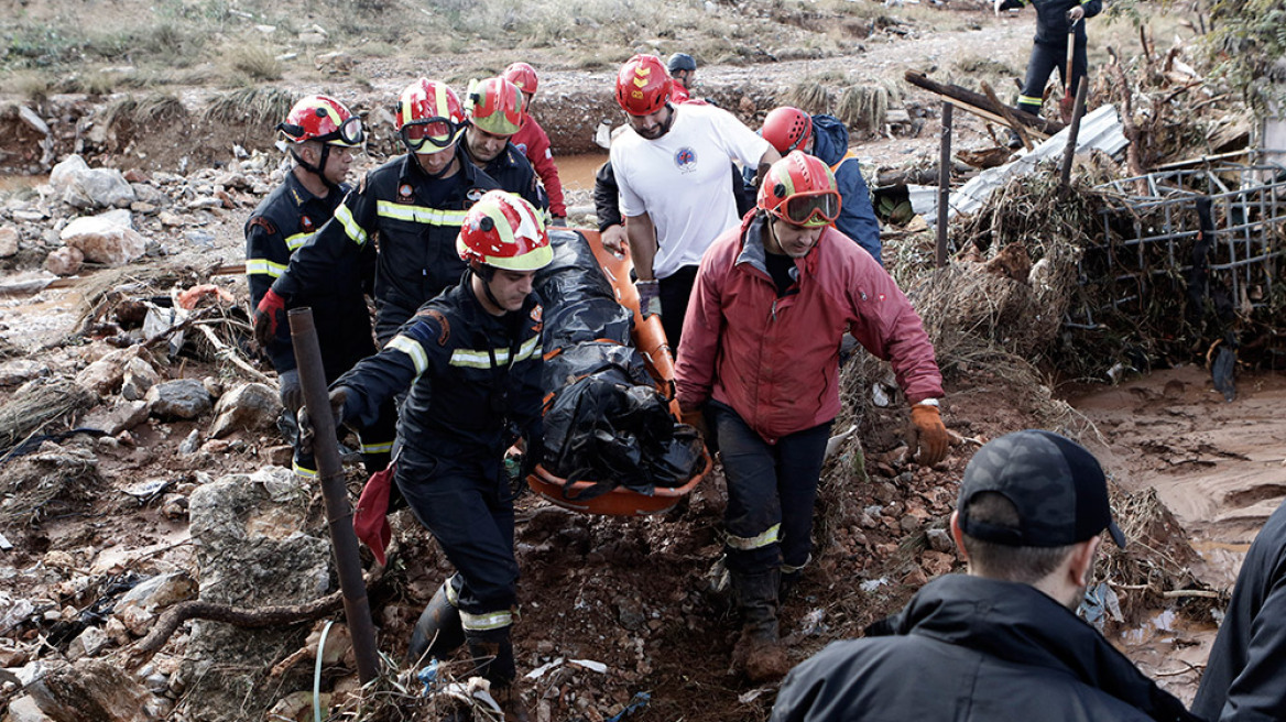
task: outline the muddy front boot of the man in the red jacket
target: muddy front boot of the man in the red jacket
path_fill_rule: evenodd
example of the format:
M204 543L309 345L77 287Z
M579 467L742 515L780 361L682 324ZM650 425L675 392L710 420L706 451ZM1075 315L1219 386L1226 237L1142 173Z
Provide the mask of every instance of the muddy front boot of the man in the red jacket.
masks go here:
M742 627L741 638L732 650L732 669L756 685L790 672L786 650L777 638L779 586L781 569L757 574L733 573Z

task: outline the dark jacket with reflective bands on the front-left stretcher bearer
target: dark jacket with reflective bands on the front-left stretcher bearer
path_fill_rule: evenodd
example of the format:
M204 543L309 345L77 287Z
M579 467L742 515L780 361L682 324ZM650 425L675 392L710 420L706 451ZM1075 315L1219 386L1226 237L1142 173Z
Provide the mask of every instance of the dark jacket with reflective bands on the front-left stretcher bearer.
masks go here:
M350 389L343 420L370 424L385 400L410 388L401 443L459 461L500 459L516 436L540 438L540 328L534 295L522 311L493 316L466 274L333 384Z

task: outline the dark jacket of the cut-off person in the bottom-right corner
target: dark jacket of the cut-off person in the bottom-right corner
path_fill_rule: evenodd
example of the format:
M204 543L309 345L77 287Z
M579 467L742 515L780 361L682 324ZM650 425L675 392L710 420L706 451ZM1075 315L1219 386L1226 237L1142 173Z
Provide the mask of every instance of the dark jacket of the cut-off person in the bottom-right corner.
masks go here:
M1220 722L1286 719L1286 504L1246 552L1192 710Z

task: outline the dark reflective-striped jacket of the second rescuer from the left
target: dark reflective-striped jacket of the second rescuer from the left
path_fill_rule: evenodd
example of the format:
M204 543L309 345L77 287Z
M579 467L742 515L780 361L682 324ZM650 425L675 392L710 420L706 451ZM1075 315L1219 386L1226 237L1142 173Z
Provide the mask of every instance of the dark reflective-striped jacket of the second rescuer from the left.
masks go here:
M325 288L337 269L354 262L372 242L379 249L376 308L381 329L391 333L422 303L454 285L464 272L455 251L464 213L484 193L499 188L460 146L460 170L449 179L428 176L409 154L367 173L336 208L334 218L294 253L273 290L291 301Z

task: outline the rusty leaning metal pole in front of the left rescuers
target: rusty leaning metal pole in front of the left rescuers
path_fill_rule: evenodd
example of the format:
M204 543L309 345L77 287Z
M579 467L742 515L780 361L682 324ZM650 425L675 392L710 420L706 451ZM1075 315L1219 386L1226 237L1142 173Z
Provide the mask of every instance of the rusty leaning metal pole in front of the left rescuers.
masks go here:
M376 627L370 621L370 601L367 583L361 578L361 558L358 556L358 533L352 531L352 505L343 482L340 445L334 437L334 416L327 392L325 371L322 367L322 347L318 346L316 328L311 308L292 308L291 342L294 360L300 365L300 383L303 387L303 406L312 421L312 456L318 465L318 480L325 500L325 516L331 527L331 551L340 572L340 591L343 594L343 613L352 632L352 653L358 660L358 678L361 683L379 674L379 653L376 649ZM320 654L320 650L318 651Z

